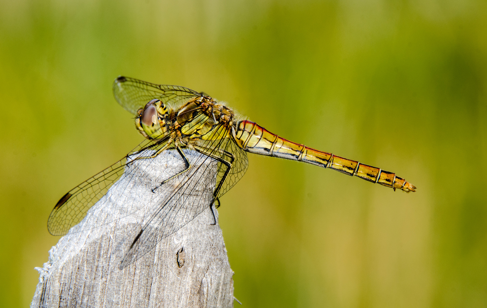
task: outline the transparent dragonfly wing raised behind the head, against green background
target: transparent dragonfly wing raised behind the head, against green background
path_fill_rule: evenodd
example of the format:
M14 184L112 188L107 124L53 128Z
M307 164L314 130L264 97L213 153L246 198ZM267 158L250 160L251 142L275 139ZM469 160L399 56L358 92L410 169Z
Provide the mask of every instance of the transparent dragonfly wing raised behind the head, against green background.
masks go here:
M156 85L124 76L116 78L112 88L115 100L133 114L153 99L159 99L163 103L174 103L201 96L197 91L184 86Z

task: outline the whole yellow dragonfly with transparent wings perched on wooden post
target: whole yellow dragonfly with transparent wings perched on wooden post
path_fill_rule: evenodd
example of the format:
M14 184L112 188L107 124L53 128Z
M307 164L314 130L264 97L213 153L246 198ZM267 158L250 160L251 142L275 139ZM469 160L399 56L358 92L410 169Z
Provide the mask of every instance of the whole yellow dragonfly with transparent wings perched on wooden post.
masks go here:
M115 100L135 115L135 127L145 137L144 141L112 166L67 192L48 218L49 232L52 235L67 234L117 180L128 176L128 169L134 161L150 163L156 156L169 150L180 155L185 165L183 170L161 179L160 183L151 188L153 193L157 193L158 188L171 179L182 174L188 175L186 180L174 186L166 199L162 199L154 214L141 227L123 257L120 269L143 256L158 240L179 230L208 206L215 219L213 206L218 207L219 198L244 175L248 166L247 153L313 164L393 188L394 191L400 189L413 192L416 189L393 172L284 139L255 122L242 119L225 103L203 92L183 86L152 84L124 76L115 79L112 90ZM192 163L187 159L188 151L197 154ZM217 162L212 171L215 178L212 200L193 200L184 208L184 200L178 199L169 206L171 198L177 198L178 192L189 188L190 177L201 176L194 171L208 159Z

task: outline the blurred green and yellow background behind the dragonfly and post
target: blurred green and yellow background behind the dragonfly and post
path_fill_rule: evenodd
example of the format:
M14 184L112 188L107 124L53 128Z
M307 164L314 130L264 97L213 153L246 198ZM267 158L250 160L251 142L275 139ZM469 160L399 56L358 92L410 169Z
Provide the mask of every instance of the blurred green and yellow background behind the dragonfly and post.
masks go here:
M249 154L219 209L243 307L486 307L486 6L2 0L0 306L29 305L57 200L141 140L123 74L419 188Z

